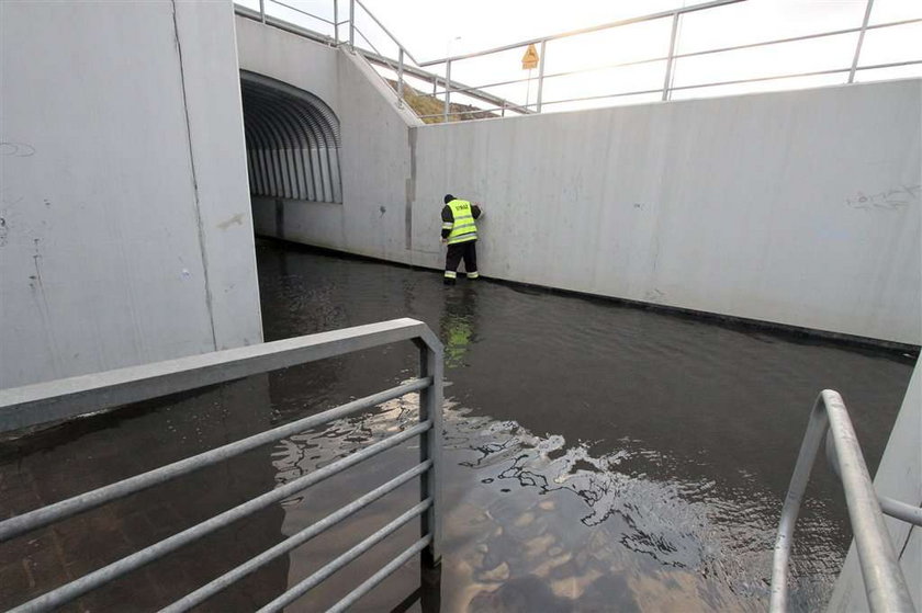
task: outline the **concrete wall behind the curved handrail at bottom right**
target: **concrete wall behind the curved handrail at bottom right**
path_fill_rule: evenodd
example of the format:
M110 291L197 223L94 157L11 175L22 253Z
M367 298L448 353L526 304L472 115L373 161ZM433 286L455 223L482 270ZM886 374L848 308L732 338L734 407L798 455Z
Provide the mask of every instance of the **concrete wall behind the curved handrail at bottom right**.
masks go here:
M922 362L917 362L906 393L903 406L897 416L890 440L874 486L880 496L889 496L908 504L922 507ZM922 529L907 522L886 518L887 529L900 567L909 583L915 609L922 608ZM865 594L858 554L853 544L845 558L845 566L835 583L829 611L869 611Z

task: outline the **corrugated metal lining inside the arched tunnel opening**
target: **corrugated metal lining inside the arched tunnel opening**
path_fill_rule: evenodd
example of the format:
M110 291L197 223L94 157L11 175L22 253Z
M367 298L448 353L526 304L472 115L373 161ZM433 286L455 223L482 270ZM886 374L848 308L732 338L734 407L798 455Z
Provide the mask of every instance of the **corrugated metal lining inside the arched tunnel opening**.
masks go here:
M316 95L240 71L254 195L342 202L339 118Z

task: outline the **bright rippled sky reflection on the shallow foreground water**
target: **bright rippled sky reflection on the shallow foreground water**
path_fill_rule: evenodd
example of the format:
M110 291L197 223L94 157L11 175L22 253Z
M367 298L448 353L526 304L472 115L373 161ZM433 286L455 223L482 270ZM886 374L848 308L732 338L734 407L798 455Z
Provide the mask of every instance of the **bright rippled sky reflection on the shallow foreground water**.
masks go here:
M276 446L283 484L411 427L417 396L307 431ZM443 604L540 611L760 610L767 603L777 504L771 492L716 480L651 478L621 466L670 458L625 439L608 453L538 436L452 402L445 408ZM416 447L398 455L415 458ZM394 464L401 459L391 458ZM404 501L405 502L405 501ZM305 503L302 497L288 508ZM393 512L400 507L397 502ZM811 546L822 523L805 525ZM833 535L834 536L834 535ZM834 542L834 538L833 538ZM798 568L794 591L823 602L841 553ZM536 582L537 580L537 582ZM540 586L540 587L539 587ZM616 591L617 589L617 591Z

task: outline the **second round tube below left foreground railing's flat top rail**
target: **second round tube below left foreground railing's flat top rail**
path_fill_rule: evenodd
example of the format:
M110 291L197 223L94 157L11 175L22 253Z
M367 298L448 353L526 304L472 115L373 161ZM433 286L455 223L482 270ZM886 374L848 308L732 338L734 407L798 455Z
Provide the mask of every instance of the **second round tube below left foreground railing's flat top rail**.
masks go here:
M247 515L251 515L256 511L265 509L269 504L274 502L279 502L284 500L289 496L297 493L299 491L306 489L313 485L316 485L324 479L336 475L337 473L341 473L346 468L350 466L355 466L356 464L368 459L369 457L373 457L379 453L386 451L391 447L394 447L404 441L407 441L418 434L421 434L426 430L429 430L432 427L431 422L419 423L404 430L400 434L394 434L393 436L389 436L383 441L379 441L373 445L369 445L368 447L348 456L328 466L325 466L310 475L305 475L300 477L291 483L288 483L281 487L273 489L272 491L268 491L262 496L258 496L243 504L238 504L233 509L224 511L221 514L217 514L210 520L205 520L202 523L193 525L182 532L175 534L168 538L160 541L149 547L145 547L139 552L136 552L130 556L126 556L120 560L116 560L108 566L104 566L98 570L90 572L89 575L85 575L83 577L76 579L60 588L57 588L48 593L42 594L41 597L33 599L20 606L13 609L10 613L34 613L34 612L42 612L42 611L52 611L70 602L71 600L79 598L80 595L99 588L110 581L113 581L133 570L140 568L156 559L164 557L165 555L179 549L180 547L188 545L194 541L198 541L202 536L211 534L215 530L224 527L234 523L237 520L246 518Z

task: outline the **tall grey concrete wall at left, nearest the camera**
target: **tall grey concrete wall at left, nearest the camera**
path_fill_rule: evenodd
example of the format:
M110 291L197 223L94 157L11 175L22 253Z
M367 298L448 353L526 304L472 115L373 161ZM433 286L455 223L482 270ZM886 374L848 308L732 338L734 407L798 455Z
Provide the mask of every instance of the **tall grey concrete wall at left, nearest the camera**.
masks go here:
M262 340L233 20L0 3L0 387Z

